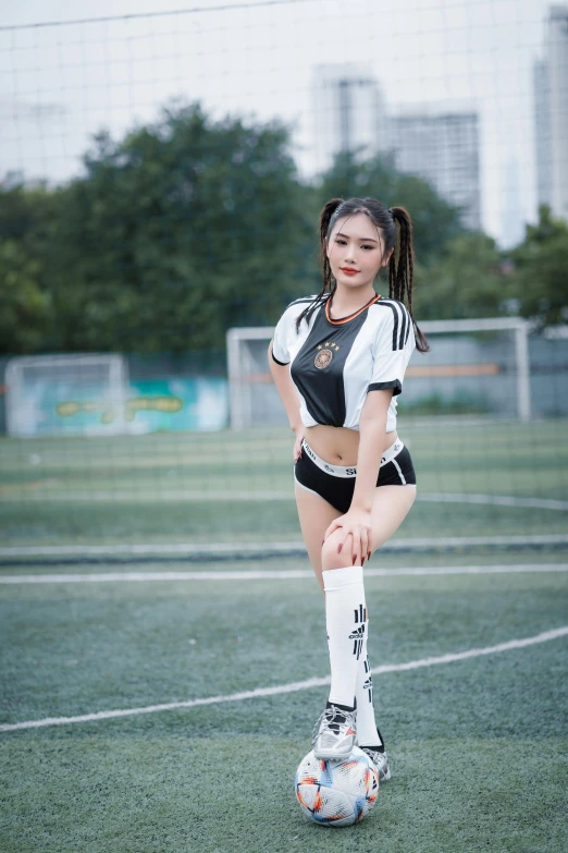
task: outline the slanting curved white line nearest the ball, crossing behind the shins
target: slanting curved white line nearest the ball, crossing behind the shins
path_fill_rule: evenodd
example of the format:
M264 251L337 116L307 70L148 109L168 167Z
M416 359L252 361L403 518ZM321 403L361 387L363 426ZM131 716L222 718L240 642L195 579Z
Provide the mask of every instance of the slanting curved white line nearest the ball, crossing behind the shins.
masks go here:
M387 672L407 672L412 669L423 667L435 667L441 663L453 663L456 660L469 660L482 655L496 655L501 651L510 651L514 648L526 648L534 646L538 643L547 643L551 639L568 635L568 625L557 627L553 631L544 631L533 637L524 639L510 639L508 643L499 643L496 646L485 646L485 648L470 648L467 651L449 653L437 657L421 658L419 660L409 660L407 663L386 663L382 667L374 667L371 672L373 675L384 675ZM322 687L331 683L331 678L326 675L321 679L308 679L307 681L295 681L291 684L279 684L274 687L257 687L256 690L243 691L242 693L231 693L229 695L208 696L202 699L188 699L187 702L170 702L164 705L147 705L144 708L124 708L121 710L97 711L96 714L83 714L78 717L48 717L44 720L28 720L26 722L7 723L0 726L1 732L18 731L21 729L42 729L49 726L66 726L73 722L98 722L100 720L112 720L119 717L136 717L140 714L156 714L158 711L176 710L178 708L195 708L200 705L217 705L222 702L242 702L243 699L254 699L261 696L276 696L285 693L295 693L300 690L310 690L311 687Z

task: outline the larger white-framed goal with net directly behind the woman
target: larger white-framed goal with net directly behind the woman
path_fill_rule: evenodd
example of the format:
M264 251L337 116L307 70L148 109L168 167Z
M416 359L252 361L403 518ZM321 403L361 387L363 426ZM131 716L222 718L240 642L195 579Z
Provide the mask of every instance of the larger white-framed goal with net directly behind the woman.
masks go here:
M405 379L410 410L427 400L450 405L471 400L486 414L531 419L529 332L520 317L425 320L420 329L431 351L415 351ZM480 336L492 332L491 337ZM271 326L227 331L227 375L232 429L286 423L268 368ZM457 404L457 403L456 403Z

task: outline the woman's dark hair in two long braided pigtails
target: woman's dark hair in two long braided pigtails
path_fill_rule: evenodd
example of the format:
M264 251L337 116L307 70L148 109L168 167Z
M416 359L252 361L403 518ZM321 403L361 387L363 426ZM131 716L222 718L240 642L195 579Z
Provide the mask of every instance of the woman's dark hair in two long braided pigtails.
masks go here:
M332 198L324 205L320 214L320 241L321 241L321 259L323 264L323 285L318 293L311 305L308 305L298 319L296 320L296 329L299 329L299 325L302 319L309 321L311 315L323 301L326 294L333 296L337 288L337 282L333 279L330 259L328 257L326 248L330 234L335 222L338 219L343 219L347 216L355 216L355 214L365 214L369 217L371 222L376 229L380 229L384 239L384 254L388 253L393 246L395 251L391 255L388 261L388 298L398 300L399 302L406 301L408 303L408 312L412 318L412 325L415 327L416 346L422 353L430 350L430 344L416 325L416 320L412 317L412 287L413 287L413 270L415 270L415 253L412 248L412 221L410 214L404 207L391 207L386 208L376 198ZM396 228L398 222L399 228ZM396 258L396 243L398 234L398 261Z

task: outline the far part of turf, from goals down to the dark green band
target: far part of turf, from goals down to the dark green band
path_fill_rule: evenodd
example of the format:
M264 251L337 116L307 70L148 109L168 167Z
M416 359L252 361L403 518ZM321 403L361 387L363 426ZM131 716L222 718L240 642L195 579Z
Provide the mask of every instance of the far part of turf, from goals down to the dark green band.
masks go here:
M566 533L568 422L406 418L400 436L418 500L395 539ZM3 440L3 544L297 540L292 438L255 430Z

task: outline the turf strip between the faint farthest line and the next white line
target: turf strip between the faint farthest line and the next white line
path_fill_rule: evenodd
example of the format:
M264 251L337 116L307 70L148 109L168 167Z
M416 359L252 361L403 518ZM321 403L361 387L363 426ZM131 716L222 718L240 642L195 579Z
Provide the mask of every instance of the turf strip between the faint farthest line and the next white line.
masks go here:
M292 492L291 492L292 495ZM185 503L0 504L3 545L124 545L162 543L301 541L289 501ZM431 503L417 500L392 537L566 534L567 513L519 507Z

